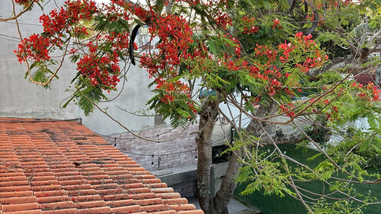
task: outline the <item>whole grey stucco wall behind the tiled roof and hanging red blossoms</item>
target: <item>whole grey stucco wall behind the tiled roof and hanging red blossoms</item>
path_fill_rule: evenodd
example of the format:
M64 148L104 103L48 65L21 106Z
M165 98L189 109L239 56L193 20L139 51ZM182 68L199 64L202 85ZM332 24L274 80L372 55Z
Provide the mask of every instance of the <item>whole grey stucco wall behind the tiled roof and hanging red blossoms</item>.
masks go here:
M48 1L44 6L45 13L56 8L55 3L62 5L63 2L64 0ZM3 2L1 4L0 14L3 17L10 14L11 11L10 2ZM42 26L39 22L41 14L42 11L40 7L36 5L32 11L28 11L18 18L22 37L29 37L33 33L42 32ZM24 74L26 72L26 65L24 63L20 65L15 53L13 53L19 43L17 42L18 39L11 38L18 37L16 26L13 22L14 21L0 22L2 29L1 34L10 36L0 36L0 50L2 50L0 51L0 117L50 119L82 117L83 124L95 132L102 134L126 132L125 129L99 112L99 110L95 110L93 115L85 117L77 105L69 104L66 109L59 108L59 103L62 99L71 94L70 92L65 92L65 90L76 73L75 65L71 64L69 59L64 61L62 68L58 72L59 80L52 81L51 90L46 90L40 85L31 84L25 80ZM52 54L52 56L59 54L62 54L62 52L57 51L57 53ZM128 82L125 83L125 87L120 96L114 101L102 103L100 106L108 106L107 112L112 115L112 117L135 131L168 126L166 123L155 125L154 118L137 117L122 112L115 106L117 105L129 112L135 112L147 108L145 104L150 97L152 97L153 93L147 89L147 85L152 79L148 78L148 72L145 69L139 69L138 65L131 65L126 76ZM119 90L122 88L122 85L122 82L118 85ZM112 99L116 97L117 94L118 93L110 93L107 94L107 96Z

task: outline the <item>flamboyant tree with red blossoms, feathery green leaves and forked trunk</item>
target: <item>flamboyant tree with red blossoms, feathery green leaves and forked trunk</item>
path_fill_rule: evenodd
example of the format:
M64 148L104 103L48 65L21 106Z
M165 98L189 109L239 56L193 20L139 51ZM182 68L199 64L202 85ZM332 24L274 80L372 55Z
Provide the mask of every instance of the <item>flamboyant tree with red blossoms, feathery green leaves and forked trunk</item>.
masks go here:
M15 2L27 9L38 1ZM381 131L380 91L374 83L355 83L352 74L365 73L379 63L370 54L379 50L380 32L368 29L368 22L364 25L361 14L367 10L373 11L370 29L379 28L375 22L379 17L377 1L148 0L140 5L115 0L97 5L91 0L69 0L61 8L42 14L43 32L27 38L19 32L21 42L15 53L27 66L26 78L45 88L57 77L68 55L77 64L77 75L72 81L75 88L69 89L73 94L63 107L76 102L86 115L98 109L115 120L98 103L108 101L107 93L116 91L117 84L125 81L126 65L134 64L133 50L138 47L132 42L131 23L147 25L152 38L160 39L159 51L141 54L140 58L141 67L153 80L149 87L155 92L147 104L149 110L170 118L173 126L183 126L184 130L199 120L195 138L199 148L197 186L206 213L228 213L236 178L239 182L251 181L244 193L262 188L265 194L296 198L311 213L324 213L324 209L334 213L338 208L349 213L357 208L340 203L378 202L367 195L353 195L347 184L381 182L378 174L373 175L376 180L364 179L367 171L363 169L368 161L364 151L381 153L377 137ZM14 19L17 27L18 16L14 11L9 19ZM359 29L365 29L361 36ZM316 39L311 33L318 35ZM329 53L313 39L333 40L334 46L351 49L352 56L330 62ZM77 47L70 47L70 41ZM53 59L56 50L63 51L60 61ZM52 65L55 70L50 70ZM199 81L203 88L217 93L192 94ZM302 96L307 98L295 101L294 97ZM228 111L221 110L223 105ZM240 114L234 115L233 108ZM251 119L246 129L242 127L242 115ZM233 155L221 188L212 198L211 139L217 117L229 121L239 137L228 144ZM367 118L370 128L357 133L343 131L357 118ZM119 124L130 131L128 125ZM297 132L274 136L276 125L292 125ZM322 133L324 137L316 137ZM326 144L331 136L339 137L339 144ZM171 140L142 138L152 142ZM301 148L313 144L326 159L311 168L283 154L279 144L298 144ZM267 154L269 145L275 149ZM297 167L290 167L290 163ZM347 178L335 177L334 172ZM301 189L295 184L301 180L322 180L330 192ZM310 201L307 191L322 200ZM332 197L333 193L343 198Z

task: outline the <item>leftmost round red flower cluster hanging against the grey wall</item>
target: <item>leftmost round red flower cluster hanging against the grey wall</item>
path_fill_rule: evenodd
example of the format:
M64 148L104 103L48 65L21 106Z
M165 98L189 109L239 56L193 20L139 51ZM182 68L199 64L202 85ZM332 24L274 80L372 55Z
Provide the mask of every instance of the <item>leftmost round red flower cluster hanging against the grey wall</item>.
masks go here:
M20 64L26 59L30 59L32 62L46 61L50 59L48 50L50 45L49 38L33 34L28 39L24 38L18 45L18 51L14 51L14 53L17 53Z

